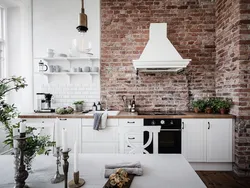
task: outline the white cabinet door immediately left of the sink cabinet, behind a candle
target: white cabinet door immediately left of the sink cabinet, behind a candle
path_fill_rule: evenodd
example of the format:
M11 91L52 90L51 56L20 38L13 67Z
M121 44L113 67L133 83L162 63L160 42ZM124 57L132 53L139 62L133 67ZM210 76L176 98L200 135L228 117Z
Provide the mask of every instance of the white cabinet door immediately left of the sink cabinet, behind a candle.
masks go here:
M67 130L67 141L68 147L70 149L74 149L74 143L78 139L79 127L81 126L81 119L73 119L73 118L60 118L59 119L59 129L58 133L60 138L60 143L62 142L62 129Z

